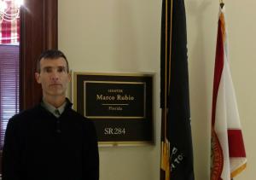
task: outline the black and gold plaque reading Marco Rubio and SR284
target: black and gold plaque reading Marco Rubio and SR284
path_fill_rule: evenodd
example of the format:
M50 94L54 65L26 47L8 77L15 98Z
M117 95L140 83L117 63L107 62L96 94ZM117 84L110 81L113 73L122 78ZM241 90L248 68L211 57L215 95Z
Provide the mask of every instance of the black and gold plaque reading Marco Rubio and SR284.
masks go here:
M153 75L74 73L75 109L93 120L100 144L153 142Z

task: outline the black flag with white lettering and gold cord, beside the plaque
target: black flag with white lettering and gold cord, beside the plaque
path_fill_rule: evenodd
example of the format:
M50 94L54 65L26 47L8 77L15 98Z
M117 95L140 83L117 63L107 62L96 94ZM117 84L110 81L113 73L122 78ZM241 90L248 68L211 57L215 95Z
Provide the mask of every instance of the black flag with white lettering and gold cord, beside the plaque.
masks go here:
M161 21L161 180L194 180L183 0L163 0Z

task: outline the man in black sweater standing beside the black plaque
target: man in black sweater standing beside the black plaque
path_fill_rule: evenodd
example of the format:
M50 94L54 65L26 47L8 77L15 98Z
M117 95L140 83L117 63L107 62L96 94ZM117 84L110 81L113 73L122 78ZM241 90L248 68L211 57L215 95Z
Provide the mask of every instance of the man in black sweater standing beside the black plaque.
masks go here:
M3 145L3 180L98 180L99 156L92 121L71 108L66 56L47 50L38 58L38 106L9 119Z

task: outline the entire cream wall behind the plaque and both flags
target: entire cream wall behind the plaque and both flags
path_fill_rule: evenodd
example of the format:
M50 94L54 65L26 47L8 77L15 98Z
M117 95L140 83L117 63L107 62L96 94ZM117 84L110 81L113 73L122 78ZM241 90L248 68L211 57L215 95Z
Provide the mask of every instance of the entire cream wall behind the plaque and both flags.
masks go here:
M212 76L218 0L187 0L189 85L195 179L209 179ZM236 180L253 179L256 167L253 102L256 2L226 1L230 66L247 148L247 170ZM101 180L159 180L160 171L160 0L60 0L59 48L76 72L156 73L155 144L100 148ZM254 24L253 24L254 23Z

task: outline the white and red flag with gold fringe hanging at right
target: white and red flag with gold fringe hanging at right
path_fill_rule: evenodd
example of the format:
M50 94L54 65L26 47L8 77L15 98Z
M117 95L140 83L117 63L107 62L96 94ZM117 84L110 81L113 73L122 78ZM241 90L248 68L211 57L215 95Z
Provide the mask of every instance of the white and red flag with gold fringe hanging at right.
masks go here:
M230 74L224 7L219 9L213 95L211 180L230 180L245 169L247 159L236 95Z

